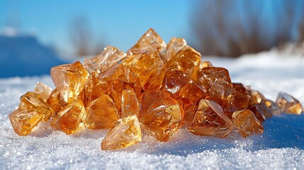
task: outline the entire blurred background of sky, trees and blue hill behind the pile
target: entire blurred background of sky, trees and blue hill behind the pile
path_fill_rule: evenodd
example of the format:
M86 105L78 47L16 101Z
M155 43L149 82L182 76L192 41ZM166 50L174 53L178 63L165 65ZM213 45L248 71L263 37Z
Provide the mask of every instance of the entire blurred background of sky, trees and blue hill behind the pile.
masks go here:
M303 0L0 1L0 77L49 74L107 45L127 51L149 28L202 55L304 48Z

